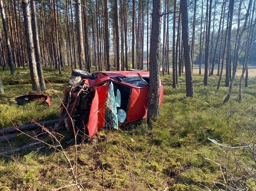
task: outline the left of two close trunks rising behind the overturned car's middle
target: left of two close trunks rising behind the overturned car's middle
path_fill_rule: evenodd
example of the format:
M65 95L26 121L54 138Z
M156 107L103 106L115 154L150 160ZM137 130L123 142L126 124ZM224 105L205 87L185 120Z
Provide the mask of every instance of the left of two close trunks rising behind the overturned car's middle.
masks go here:
M110 71L110 50L109 50L109 19L108 19L108 0L104 0L105 6L105 47L106 47L106 61L107 61L107 71Z

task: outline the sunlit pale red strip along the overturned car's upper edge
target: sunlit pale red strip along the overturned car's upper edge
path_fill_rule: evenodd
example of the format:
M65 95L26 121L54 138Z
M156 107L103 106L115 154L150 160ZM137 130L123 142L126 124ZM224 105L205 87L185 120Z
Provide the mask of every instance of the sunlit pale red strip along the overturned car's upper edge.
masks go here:
M149 72L145 71L104 71L104 72L99 72L104 75L107 75L108 77L148 77Z

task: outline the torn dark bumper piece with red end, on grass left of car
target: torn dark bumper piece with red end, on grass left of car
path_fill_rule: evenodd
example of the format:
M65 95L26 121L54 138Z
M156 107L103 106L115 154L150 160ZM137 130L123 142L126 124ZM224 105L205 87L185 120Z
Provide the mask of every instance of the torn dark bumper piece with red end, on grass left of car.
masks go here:
M27 95L19 96L19 97L15 98L14 100L19 105L23 105L23 104L29 103L31 101L34 101L34 100L43 101L48 106L51 105L50 97L47 95L43 95L43 94L27 94Z

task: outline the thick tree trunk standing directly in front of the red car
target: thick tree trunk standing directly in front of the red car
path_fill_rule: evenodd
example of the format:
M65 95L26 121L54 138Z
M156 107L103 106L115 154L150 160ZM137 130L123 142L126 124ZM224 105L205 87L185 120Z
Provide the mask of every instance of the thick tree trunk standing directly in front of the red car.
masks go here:
M149 53L149 92L147 122L155 120L159 114L160 95L160 34L161 34L161 0L154 0L152 8L150 53Z

